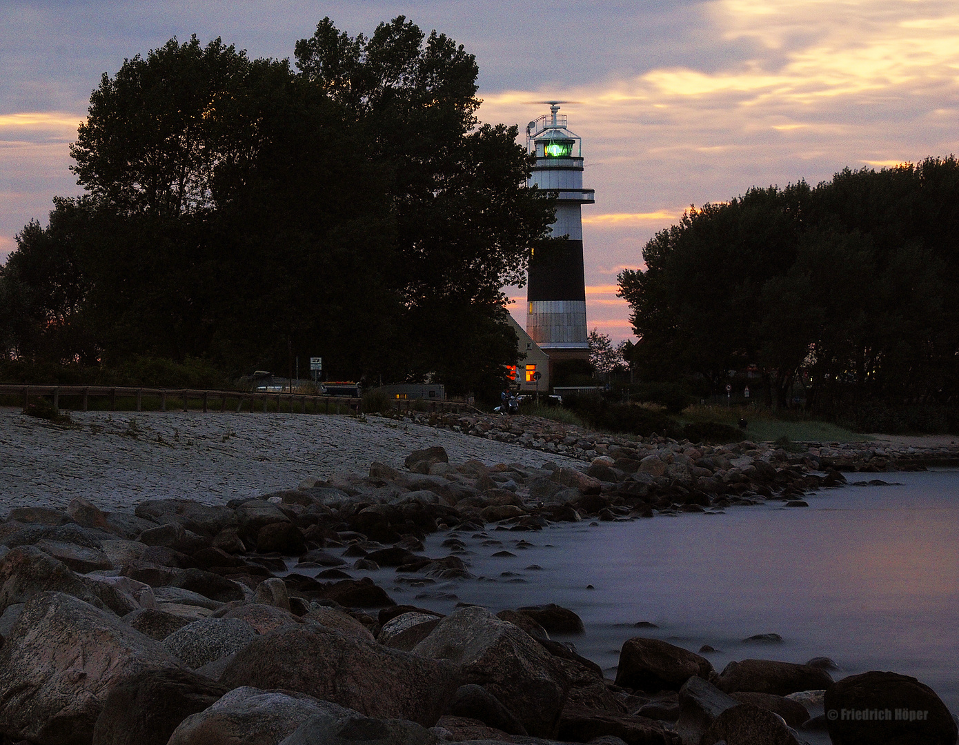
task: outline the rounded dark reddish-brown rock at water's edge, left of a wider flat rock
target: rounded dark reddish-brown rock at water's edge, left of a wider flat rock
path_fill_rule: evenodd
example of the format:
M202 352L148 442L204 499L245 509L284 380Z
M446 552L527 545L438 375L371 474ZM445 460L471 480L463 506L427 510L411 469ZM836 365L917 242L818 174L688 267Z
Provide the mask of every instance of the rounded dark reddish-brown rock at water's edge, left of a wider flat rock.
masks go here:
M616 685L656 693L667 688L679 690L693 675L709 680L713 664L688 649L667 641L634 637L620 649Z

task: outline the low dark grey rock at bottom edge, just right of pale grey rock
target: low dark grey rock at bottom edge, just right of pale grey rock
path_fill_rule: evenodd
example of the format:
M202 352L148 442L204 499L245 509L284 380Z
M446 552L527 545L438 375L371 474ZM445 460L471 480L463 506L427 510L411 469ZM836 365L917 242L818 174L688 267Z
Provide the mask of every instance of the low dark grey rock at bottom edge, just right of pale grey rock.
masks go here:
M280 745L437 745L436 736L415 722L371 719L350 713L307 719Z

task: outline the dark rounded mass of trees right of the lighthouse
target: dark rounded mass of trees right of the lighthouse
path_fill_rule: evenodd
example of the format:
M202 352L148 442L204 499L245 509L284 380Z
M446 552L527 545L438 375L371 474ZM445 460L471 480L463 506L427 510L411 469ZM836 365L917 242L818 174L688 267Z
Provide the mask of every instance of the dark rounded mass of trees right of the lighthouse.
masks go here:
M758 368L861 429L955 431L959 162L851 171L690 209L620 274L648 380Z

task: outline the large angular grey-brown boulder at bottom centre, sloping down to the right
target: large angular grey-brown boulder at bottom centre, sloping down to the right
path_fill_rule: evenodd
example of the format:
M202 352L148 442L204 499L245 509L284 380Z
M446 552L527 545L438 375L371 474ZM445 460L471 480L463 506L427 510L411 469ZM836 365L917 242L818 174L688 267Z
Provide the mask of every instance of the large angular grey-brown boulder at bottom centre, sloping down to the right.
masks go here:
M471 606L443 618L413 654L458 665L464 683L486 688L533 736L549 737L566 702L569 680L526 632Z

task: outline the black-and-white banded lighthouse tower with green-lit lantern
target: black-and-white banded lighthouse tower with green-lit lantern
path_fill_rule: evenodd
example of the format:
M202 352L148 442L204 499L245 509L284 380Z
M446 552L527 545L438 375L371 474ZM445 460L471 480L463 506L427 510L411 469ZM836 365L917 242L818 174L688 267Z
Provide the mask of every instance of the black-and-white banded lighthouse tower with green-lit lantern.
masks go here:
M526 333L552 364L589 358L580 208L593 204L595 193L583 188L582 140L559 113L564 102L545 103L550 113L526 127L526 149L536 155L528 184L555 195L551 236L562 240L535 246L529 259Z

